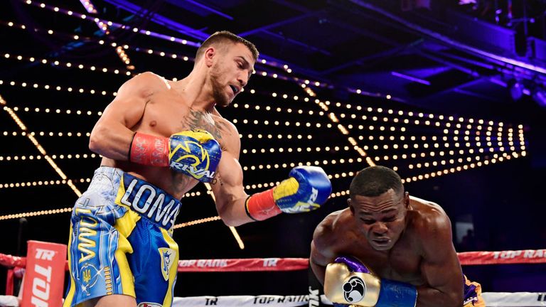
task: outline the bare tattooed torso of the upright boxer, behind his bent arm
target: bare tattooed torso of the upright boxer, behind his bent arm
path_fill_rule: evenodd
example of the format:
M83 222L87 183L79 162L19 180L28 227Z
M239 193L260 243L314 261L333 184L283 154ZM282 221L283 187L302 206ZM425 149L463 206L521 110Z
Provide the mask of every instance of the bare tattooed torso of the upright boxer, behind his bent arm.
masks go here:
M158 83L151 86L140 122L129 127L132 131L169 137L180 131L204 129L213 134L223 150L229 147L229 144L225 144L225 139L229 139L230 134L237 132L227 119L221 117L218 112L211 114L203 109L191 107L191 104L185 101L176 82L164 80L159 76L157 80ZM171 171L169 168L144 166L110 158L102 158L101 165L121 168L164 189L178 199L198 183L196 179Z

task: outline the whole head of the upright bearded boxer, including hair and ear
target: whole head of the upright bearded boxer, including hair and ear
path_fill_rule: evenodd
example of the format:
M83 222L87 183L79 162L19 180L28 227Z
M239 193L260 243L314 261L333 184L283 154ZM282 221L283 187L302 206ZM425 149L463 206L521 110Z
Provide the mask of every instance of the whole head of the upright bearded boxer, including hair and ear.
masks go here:
M250 41L229 31L220 31L200 45L194 68L206 67L215 102L225 107L247 85L258 55Z

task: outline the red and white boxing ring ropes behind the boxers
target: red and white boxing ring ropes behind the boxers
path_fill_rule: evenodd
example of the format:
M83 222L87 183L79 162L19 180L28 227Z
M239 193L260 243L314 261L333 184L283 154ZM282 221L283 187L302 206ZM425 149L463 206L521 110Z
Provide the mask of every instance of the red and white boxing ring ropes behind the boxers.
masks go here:
M498 252L461 252L463 266L488 264L542 264L546 263L546 249L508 250ZM14 279L22 278L26 257L0 254L0 265L8 268L6 296L0 296L0 306L20 306L21 298L13 296ZM178 272L245 272L245 271L296 271L309 268L306 258L250 258L250 259L189 259L178 261ZM65 264L68 270L68 263ZM474 276L473 276L474 277ZM479 282L479 277L476 278ZM545 289L546 290L546 289ZM546 306L546 292L483 292L486 306ZM193 296L175 297L173 306L319 306L331 305L318 290L311 289L301 295L277 296Z

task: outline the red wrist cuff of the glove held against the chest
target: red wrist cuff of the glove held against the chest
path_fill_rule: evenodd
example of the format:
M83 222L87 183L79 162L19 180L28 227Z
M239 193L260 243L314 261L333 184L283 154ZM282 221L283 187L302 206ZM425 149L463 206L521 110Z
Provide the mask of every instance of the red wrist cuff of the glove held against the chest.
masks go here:
M168 166L167 139L136 132L129 147L129 161L149 166Z

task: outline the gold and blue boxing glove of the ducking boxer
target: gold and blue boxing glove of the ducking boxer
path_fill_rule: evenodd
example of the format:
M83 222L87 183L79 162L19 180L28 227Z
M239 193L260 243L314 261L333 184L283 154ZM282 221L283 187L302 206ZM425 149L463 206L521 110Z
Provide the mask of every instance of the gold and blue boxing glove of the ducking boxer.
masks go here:
M324 294L332 303L365 307L414 307L417 302L415 286L380 279L353 257L338 257L326 266Z

